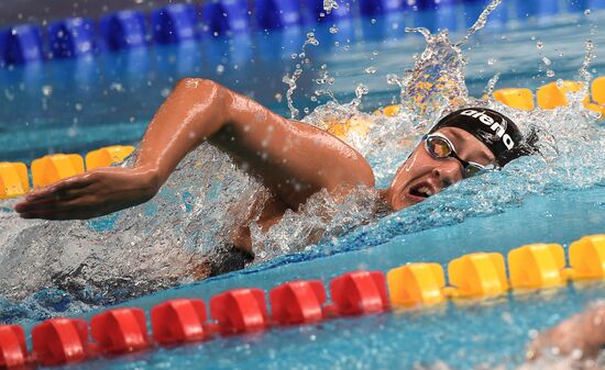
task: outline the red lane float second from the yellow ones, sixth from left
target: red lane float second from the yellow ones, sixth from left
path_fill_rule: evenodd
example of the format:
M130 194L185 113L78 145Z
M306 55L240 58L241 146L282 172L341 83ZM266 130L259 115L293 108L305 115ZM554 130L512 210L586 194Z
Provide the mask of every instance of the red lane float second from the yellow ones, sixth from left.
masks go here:
M279 325L311 324L323 319L326 289L319 280L290 281L268 293L272 317Z

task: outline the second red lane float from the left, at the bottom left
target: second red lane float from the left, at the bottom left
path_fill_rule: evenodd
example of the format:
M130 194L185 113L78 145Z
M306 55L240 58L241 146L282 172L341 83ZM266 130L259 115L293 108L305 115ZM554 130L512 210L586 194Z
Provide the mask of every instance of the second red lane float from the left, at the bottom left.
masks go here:
M88 357L88 326L81 318L51 318L34 326L32 344L44 366L80 362Z

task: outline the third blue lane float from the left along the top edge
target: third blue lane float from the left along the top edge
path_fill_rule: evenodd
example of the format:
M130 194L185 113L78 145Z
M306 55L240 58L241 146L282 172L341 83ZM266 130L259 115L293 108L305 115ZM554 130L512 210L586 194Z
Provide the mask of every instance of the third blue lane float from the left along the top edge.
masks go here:
M99 22L106 48L128 49L146 45L145 15L134 10L124 10L106 15Z

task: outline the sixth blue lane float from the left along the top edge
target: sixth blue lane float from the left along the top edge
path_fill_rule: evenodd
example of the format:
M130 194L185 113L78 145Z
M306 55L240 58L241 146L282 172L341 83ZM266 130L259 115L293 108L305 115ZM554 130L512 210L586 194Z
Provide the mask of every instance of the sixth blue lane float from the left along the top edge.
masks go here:
M298 0L256 0L256 22L263 30L297 26L301 23Z

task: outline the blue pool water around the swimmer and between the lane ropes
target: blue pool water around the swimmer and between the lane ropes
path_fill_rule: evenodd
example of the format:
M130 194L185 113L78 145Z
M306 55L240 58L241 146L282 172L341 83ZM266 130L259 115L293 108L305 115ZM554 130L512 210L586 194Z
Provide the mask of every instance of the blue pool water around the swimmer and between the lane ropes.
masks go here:
M463 44L462 52L469 59L465 82L471 96L480 97L488 80L498 72L496 88L527 87L535 90L559 78L579 78L578 70L586 54L585 41L592 41L596 55L600 55L600 47L605 46L605 36L596 27L605 21L605 11L598 10L598 1L558 3L557 14L540 15L536 9L526 9L524 1L505 0L486 29ZM217 79L280 114L289 115L286 86L282 79L286 74L292 75L295 65L305 58L309 63L302 63L304 72L294 91L294 104L300 116L305 115L306 109L312 111L328 101L326 94L315 99L317 89L330 89L338 106L345 106L355 98L360 85L365 86L369 93L362 97L359 108L371 112L398 102L399 88L387 83L387 75L403 76L406 69L414 67L414 54L422 53L426 47L424 37L405 33L405 26L429 25L433 33L438 27L447 26L451 30L450 38L460 40L483 9L481 3L455 7L454 14L460 15L453 19L444 11L408 12L355 19L353 24L338 24L337 33L330 32L331 24L317 26L315 37L319 45L307 45L304 57L299 53L308 37L306 29L0 70L3 90L0 101L10 106L0 111L0 158L30 161L46 153L86 153L108 144L136 143L155 109L176 80L185 76ZM591 12L585 12L588 8ZM296 55L293 57L293 54ZM549 77L548 70L554 75ZM318 83L322 82L318 76L324 71L334 78L333 83ZM605 75L605 59L597 57L592 60L588 71L593 76ZM351 106L346 105L346 109ZM142 298L122 305L150 309L177 296L208 300L227 289L271 289L295 279L328 282L340 273L359 268L386 271L406 262L447 264L473 251L506 253L539 242L568 246L583 235L602 233L605 224L603 128L594 117L580 112L572 108L548 114L519 115L527 122L552 120L547 127L558 137L558 157L547 161L520 159L502 172L464 181L417 206L372 220L342 236L324 238L304 249L277 247L267 256L286 255L273 259L267 257L267 261L245 270L206 281L146 295L142 291L134 294L143 294ZM314 115L306 120L312 122ZM400 123L395 121L386 123L397 128ZM399 133L399 128L383 128L391 136ZM384 137L376 134L369 142L350 138L367 155L383 187L388 183L396 164L405 159L405 152L395 153L389 145L385 145L387 150L392 150L387 153L388 160L383 159L384 152L373 149L378 145L378 138ZM215 170L229 167L215 157L196 155L210 162L209 168ZM196 187L197 178L186 170L178 176L168 188L186 189L175 192L185 199L187 191ZM239 177L234 179L233 182L241 180ZM217 191L212 184L219 180L212 181L204 182L209 184L204 188L208 193ZM55 264L57 259L78 259L88 245L76 246L74 240L77 239L86 243L105 240L108 248L131 253L133 245L143 239L141 235L155 235L154 229L161 237L173 228L194 233L191 227L198 224L179 223L188 210L185 206L179 213L183 199L177 197L175 201L173 195L158 197L160 200L151 202L147 208L117 216L118 221L109 217L90 224L63 224L66 226L20 221L10 212L11 203L3 203L6 206L0 217L3 225L10 227L0 232L0 245L6 246L0 250L0 265L4 273L14 276L14 271L20 271L20 276L31 276L30 280L34 281L38 270L44 270L45 260ZM220 197L228 195L212 197L222 199ZM170 202L178 205L178 212L162 209L163 204ZM133 221L134 232L132 227L122 225L128 224L124 218L139 214L144 214L144 217ZM219 217L213 213L210 215ZM189 222L191 216L187 217ZM67 231L65 235L59 233L59 227ZM113 227L122 231L124 236L112 236ZM276 232L275 235L280 234ZM196 237L198 242L207 239L204 235ZM53 248L46 248L40 240L52 240ZM295 244L295 240L282 239L276 245L288 243ZM50 250L44 256L47 259L32 259L36 262L32 264L33 267L19 267L19 258L30 258L26 250L21 255L18 248L21 245L28 245L32 255ZM123 255L118 251L106 264L136 262L135 259L121 259ZM92 274L102 274L106 270L92 268ZM1 321L31 325L53 315L90 316L108 302L124 301L133 295L116 294L109 301L85 299L82 294L73 295L56 287L36 291L36 287L28 285L30 280L23 281L23 291L28 294L21 294L16 302L0 301ZM512 293L487 301L450 302L426 310L217 338L199 345L95 360L78 367L409 369L416 365L430 367L440 361L457 369L514 367L522 362L524 348L535 330L551 326L580 311L586 302L603 298L604 288L602 282L593 282L538 293Z

